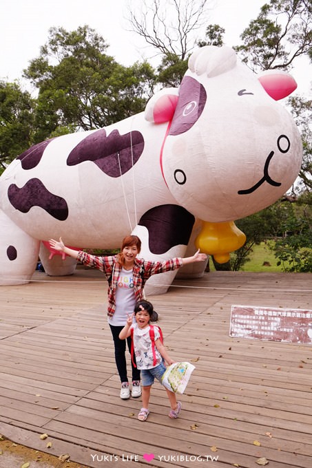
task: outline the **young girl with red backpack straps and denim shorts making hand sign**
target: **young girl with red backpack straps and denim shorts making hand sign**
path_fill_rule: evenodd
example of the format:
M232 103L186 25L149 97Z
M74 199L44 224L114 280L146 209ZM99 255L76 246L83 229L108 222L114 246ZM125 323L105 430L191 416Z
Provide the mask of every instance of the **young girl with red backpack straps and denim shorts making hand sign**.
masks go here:
M141 370L141 387L142 387L142 403L143 407L138 413L138 419L140 421L146 421L149 415L149 395L151 393L151 387L154 383L154 379L161 381L161 378L166 370L165 364L173 364L174 361L169 357L169 354L160 341L160 332L157 326L154 326L154 344L156 362L154 360L154 354L152 349L152 340L149 335L149 320L152 317L153 306L149 301L140 301L134 308L134 314L128 315L127 323L123 330L119 334L120 339L126 339L131 335L131 329L133 328L133 341L134 341L134 353L136 356L136 365ZM136 322L132 323L133 317L136 318ZM169 412L169 418L178 418L181 410L180 401L176 401L176 394L170 392L166 388L167 395L169 398L171 411Z

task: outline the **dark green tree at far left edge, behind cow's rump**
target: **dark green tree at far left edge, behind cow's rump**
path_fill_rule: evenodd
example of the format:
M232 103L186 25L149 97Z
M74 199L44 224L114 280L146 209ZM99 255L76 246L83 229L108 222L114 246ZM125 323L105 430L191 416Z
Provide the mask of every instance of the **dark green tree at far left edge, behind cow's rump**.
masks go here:
M34 108L35 100L18 83L0 81L0 173L32 144Z

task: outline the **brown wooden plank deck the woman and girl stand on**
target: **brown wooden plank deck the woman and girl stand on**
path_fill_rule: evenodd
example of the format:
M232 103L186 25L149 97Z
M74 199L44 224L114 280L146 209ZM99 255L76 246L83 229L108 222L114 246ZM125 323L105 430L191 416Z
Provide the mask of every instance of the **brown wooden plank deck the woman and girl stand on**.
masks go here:
M157 383L145 423L141 398L119 398L103 276L33 280L0 287L0 434L94 468L311 468L312 346L229 337L232 304L312 309L311 275L207 273L149 297L196 370L180 418Z

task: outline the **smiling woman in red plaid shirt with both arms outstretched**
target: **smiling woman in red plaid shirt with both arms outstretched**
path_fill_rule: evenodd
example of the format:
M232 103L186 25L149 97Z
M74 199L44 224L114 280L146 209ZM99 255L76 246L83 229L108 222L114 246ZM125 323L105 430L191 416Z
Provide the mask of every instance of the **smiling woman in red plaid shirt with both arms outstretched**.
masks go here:
M103 271L108 281L107 316L110 330L114 339L115 361L121 379L121 393L123 399L130 397L129 381L127 378L127 361L125 358L125 340L119 338L119 333L127 323L127 315L132 315L134 306L143 300L143 288L149 277L169 270L176 270L183 265L193 262L203 262L207 259L205 253L199 250L187 258L175 257L162 262L149 262L138 258L141 251L141 240L136 235L127 235L123 239L121 253L100 257L83 251L74 251L59 242L50 239L50 245L56 251L64 252L77 259L86 266L92 266ZM127 337L127 345L131 352L131 337ZM140 371L132 363L132 391L134 398L141 396Z

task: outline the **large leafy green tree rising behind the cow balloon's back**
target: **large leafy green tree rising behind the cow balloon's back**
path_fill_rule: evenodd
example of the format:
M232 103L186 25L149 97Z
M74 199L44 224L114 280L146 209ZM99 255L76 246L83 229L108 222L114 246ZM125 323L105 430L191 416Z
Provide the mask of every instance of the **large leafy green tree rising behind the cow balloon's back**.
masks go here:
M95 129L144 109L154 70L147 63L123 67L105 54L104 39L87 25L76 31L51 28L39 58L24 75L39 89L37 136L59 127Z

